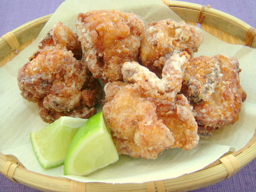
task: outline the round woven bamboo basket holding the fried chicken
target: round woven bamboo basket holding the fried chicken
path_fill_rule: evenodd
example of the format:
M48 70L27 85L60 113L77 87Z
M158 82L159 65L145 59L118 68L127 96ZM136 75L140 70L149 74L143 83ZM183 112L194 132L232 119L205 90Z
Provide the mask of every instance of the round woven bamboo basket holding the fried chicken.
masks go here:
M197 25L215 37L231 44L256 48L256 30L243 21L222 11L181 1L162 0L187 23ZM12 60L19 51L37 37L51 15L35 19L0 38L0 67ZM10 41L11 39L11 41ZM8 41L8 42L7 42ZM12 155L0 152L0 173L14 182L42 191L189 191L218 183L233 176L256 158L256 135L241 150L225 154L211 165L194 173L161 181L141 184L82 183L70 179L51 177L24 168Z

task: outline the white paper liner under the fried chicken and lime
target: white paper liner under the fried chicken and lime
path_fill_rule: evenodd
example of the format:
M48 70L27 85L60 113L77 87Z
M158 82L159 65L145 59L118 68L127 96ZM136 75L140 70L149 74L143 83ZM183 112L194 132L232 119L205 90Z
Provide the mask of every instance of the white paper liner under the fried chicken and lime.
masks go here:
M203 169L230 150L239 150L252 138L256 128L256 49L230 45L202 31L204 42L195 56L224 54L240 62L241 85L247 92L240 119L233 125L215 132L211 139L200 140L191 151L168 149L156 160L120 155L118 162L99 169L86 177L64 176L63 166L43 169L30 144L29 133L40 130L46 123L38 115L37 104L26 101L17 85L17 72L37 49L38 41L53 24L61 21L75 29L79 12L99 9L119 9L134 12L147 25L151 21L171 18L183 22L161 0L66 0L42 29L38 38L11 62L0 68L0 152L15 155L34 172L68 177L83 182L141 183L179 177ZM200 29L198 29L200 30Z

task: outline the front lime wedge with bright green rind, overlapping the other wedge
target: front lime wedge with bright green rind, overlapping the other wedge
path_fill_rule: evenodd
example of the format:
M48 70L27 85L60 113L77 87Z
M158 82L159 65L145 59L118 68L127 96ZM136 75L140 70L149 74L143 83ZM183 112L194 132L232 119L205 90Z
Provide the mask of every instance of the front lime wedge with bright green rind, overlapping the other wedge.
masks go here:
M102 112L91 117L75 134L64 163L65 175L87 175L118 160L117 149Z

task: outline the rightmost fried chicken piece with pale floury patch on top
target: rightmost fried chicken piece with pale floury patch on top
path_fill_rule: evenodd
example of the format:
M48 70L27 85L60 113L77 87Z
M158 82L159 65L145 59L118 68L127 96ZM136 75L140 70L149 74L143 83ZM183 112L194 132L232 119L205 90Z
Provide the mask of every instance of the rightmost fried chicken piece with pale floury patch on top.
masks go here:
M246 99L240 72L238 60L224 55L188 61L181 93L193 106L200 136L211 137L216 129L238 120Z

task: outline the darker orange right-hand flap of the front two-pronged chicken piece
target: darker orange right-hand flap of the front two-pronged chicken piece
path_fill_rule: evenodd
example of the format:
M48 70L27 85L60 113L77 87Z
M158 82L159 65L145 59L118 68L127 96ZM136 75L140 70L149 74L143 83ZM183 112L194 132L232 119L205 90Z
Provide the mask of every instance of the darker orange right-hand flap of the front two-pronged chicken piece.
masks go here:
M197 124L192 107L183 94L177 94L174 102L155 100L158 118L170 129L174 137L173 147L190 150L197 146Z

